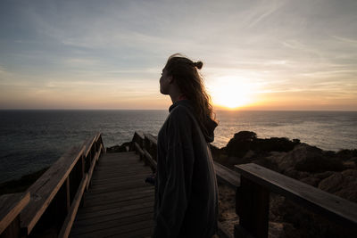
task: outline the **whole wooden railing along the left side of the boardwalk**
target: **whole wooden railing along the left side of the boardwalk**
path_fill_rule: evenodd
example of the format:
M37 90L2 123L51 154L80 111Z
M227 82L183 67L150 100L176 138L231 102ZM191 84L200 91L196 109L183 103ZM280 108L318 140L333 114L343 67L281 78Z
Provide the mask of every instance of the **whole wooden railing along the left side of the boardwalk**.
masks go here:
M4 216L1 210L1 237L37 237L44 234L67 237L83 193L90 185L95 163L104 152L102 136L98 133L62 155L21 195L21 199L11 199L12 207L16 209L4 211ZM3 201L3 196L0 201Z

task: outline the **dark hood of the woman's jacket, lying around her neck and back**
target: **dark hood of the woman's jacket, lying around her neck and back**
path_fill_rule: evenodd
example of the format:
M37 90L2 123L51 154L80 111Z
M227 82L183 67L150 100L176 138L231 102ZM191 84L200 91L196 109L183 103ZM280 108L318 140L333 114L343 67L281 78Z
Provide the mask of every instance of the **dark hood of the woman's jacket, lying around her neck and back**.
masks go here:
M190 102L190 100L188 100L188 99L180 100L176 103L173 103L170 106L169 111L171 112L178 105L187 107L187 109L189 109L189 111L191 111L191 113L195 116L194 107L193 107L192 103ZM196 118L196 116L195 116L195 118ZM212 143L214 141L214 129L218 126L217 122L212 120L208 115L202 123L200 123L198 121L198 119L197 119L197 122L198 122L198 125L201 127L201 130L202 130L202 133L204 135L206 142Z

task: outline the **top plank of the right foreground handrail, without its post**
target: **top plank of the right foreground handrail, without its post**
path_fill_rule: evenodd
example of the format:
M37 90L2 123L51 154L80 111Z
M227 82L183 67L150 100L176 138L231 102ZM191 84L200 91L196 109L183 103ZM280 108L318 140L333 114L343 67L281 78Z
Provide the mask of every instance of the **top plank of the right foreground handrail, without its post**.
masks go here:
M329 220L350 229L357 229L357 204L326 193L291 177L283 176L256 164L236 165L237 171L271 192L286 196Z

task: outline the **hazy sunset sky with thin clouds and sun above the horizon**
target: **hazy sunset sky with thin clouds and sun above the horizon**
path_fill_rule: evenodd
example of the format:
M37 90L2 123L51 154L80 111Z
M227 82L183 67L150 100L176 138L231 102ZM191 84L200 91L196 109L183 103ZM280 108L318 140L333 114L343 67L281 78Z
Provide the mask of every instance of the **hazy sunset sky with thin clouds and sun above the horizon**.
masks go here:
M357 1L0 1L0 109L168 109L183 53L215 109L357 111Z

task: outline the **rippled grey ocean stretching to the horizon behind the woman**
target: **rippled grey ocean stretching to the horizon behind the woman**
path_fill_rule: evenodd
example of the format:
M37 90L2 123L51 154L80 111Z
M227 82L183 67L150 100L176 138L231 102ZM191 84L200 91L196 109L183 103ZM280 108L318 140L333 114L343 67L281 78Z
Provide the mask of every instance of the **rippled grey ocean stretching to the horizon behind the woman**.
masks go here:
M50 166L63 152L102 132L105 147L131 141L134 131L157 135L169 111L2 110L0 183ZM287 137L324 150L356 149L357 111L216 111L214 145L238 131Z

